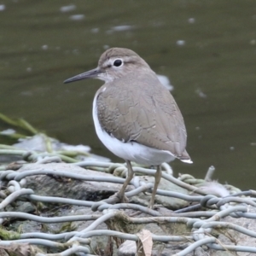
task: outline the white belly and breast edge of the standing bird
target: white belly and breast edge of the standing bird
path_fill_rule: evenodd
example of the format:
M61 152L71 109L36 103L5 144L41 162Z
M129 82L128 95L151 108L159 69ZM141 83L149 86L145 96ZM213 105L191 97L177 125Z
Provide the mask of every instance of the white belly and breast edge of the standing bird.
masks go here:
M92 116L97 136L108 150L120 158L148 166L159 166L163 162L170 162L175 159L175 157L167 150L149 148L134 142L122 143L115 137L109 136L99 123L96 97L93 100Z

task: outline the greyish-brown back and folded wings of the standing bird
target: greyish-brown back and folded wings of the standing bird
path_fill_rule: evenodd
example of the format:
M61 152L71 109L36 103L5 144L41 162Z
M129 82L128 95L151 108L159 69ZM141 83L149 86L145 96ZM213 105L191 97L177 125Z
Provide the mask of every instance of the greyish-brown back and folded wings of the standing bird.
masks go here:
M183 116L154 73L134 74L103 85L97 103L100 124L111 136L168 150L176 156L186 153Z

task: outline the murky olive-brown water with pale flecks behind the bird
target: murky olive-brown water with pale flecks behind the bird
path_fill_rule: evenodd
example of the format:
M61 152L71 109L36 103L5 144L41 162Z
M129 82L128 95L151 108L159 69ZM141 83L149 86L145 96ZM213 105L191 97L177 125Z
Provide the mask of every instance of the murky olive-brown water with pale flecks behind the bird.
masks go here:
M204 177L213 165L221 183L255 189L253 0L6 0L0 24L1 113L119 161L99 142L92 122L102 82L62 82L96 67L108 47L130 48L174 86L194 160L174 161L175 173Z

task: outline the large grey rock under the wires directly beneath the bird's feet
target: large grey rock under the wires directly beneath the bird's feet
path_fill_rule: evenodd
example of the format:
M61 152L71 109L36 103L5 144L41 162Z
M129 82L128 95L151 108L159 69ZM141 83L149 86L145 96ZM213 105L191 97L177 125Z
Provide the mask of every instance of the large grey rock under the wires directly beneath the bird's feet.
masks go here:
M113 175L109 173L91 171L80 166L66 163L26 164L22 166L18 172L37 169L71 172L89 177L113 177ZM143 182L154 183L154 177L141 176L139 178ZM26 180L27 187L33 189L36 194L39 193L39 195L61 197L65 195L68 198L84 201L104 200L118 192L122 186L122 184L119 183L74 180L72 178L59 178L49 175L28 176L26 177ZM131 188L131 186L128 186L126 191L129 191ZM186 189L183 189L164 178L161 179L158 188L188 195L188 191ZM147 195L140 193L139 195L133 196L131 201L148 207L148 201L150 198L150 193L147 193ZM187 201L162 195L156 195L155 203L172 210L180 209L188 205Z

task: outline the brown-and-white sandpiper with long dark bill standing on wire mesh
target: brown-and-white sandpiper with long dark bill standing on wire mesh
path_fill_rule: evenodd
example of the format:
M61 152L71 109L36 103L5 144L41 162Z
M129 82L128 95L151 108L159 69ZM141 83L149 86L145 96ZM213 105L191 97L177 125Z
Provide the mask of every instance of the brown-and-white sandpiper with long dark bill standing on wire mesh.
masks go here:
M97 137L127 166L125 183L117 193L126 202L125 189L133 178L131 161L156 166L154 199L161 178L161 164L178 159L193 163L186 151L187 131L183 115L172 94L136 52L107 49L98 66L64 81L101 79L105 82L93 100L93 121Z

